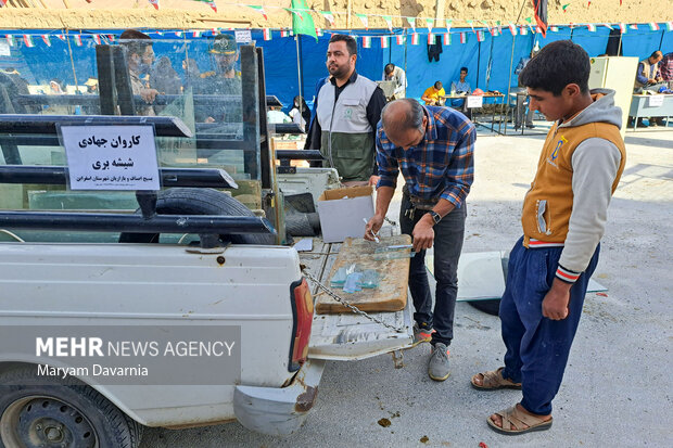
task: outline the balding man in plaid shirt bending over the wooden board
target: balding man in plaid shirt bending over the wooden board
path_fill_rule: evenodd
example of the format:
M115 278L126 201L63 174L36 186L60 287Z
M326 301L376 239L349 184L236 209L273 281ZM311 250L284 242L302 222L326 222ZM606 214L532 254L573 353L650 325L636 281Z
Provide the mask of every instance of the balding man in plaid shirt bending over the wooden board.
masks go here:
M466 196L474 166L477 132L461 113L448 107L422 106L416 100L389 103L377 129L377 209L365 239L379 231L395 192L397 175L405 178L399 225L414 239L416 256L409 268L414 298L415 342L431 342L428 374L448 377L448 349L454 337L454 309L458 293L458 258L465 232ZM434 312L426 272L426 249L434 245L437 281Z

